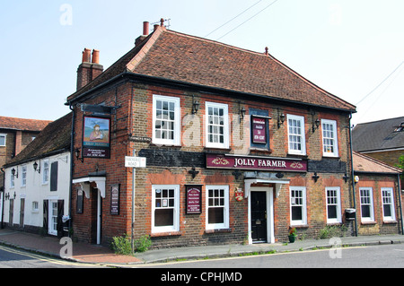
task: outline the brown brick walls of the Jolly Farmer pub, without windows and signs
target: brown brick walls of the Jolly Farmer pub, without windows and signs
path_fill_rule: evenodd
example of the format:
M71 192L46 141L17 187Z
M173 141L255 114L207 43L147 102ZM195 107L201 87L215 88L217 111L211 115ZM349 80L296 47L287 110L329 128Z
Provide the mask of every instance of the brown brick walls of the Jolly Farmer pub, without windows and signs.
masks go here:
M179 97L181 108L181 144L180 146L161 146L154 143L132 142L133 136L153 137L153 94ZM192 95L200 103L196 115L192 115ZM213 101L228 104L230 122L230 148L217 150L205 147L205 103ZM239 103L240 101L240 103ZM286 114L304 117L307 156L303 160L309 162L307 173L287 173L290 186L305 186L307 190L307 225L299 229L301 236L315 238L319 230L326 224L325 187L339 186L341 190L342 212L350 205L349 181L343 177L349 174L348 118L338 112L317 110L312 116L311 110L297 106L282 106L273 102L253 101L240 98L218 96L211 93L190 92L169 89L160 86L148 86L135 82L120 82L108 90L93 94L87 104L104 102L107 106L119 106L117 114L111 116L111 149L110 159L88 159L84 162L75 160L74 178L89 173L106 172L106 197L102 200L102 243L110 241L114 236L131 231L131 195L132 169L124 167L124 157L131 156L136 149L139 156L147 158L147 168L136 169L136 201L135 201L135 237L150 235L152 230L152 186L174 184L180 186L180 232L152 234L154 247L178 247L184 245L208 245L224 243L242 243L248 238L248 200L235 200L236 188L244 189L243 178L234 178L233 170L206 169L205 152L237 153L242 155L259 155L287 157L286 122L277 128L278 108ZM250 127L248 112L240 123L239 108L266 109L269 120L270 150L250 150ZM75 108L75 147L81 147L83 132L83 112ZM338 126L338 158L322 157L321 127L312 132L312 122L317 117L333 119ZM298 156L293 156L298 157ZM192 178L189 169L194 166L199 172ZM320 176L314 182L314 172ZM119 215L110 214L110 186L120 184ZM185 185L203 185L202 213L186 214ZM227 185L230 190L230 226L229 230L206 231L206 185ZM74 225L76 238L89 240L91 217L88 214L75 213L76 192L73 194ZM92 204L84 198L84 212ZM284 185L277 198L274 198L275 237L277 241L285 241L290 226L289 186ZM345 223L346 221L343 221Z

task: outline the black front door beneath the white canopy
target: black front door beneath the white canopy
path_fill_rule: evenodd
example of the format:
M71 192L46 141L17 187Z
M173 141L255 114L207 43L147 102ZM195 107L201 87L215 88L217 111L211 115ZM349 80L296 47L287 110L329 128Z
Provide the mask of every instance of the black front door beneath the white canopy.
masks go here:
M267 192L251 192L252 242L267 242Z

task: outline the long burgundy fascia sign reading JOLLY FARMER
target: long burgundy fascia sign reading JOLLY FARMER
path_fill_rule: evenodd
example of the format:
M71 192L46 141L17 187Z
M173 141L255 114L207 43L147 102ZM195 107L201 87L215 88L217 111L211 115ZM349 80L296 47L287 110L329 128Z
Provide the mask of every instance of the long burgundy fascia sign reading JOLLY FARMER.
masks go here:
M206 153L206 168L306 172L307 161L289 158L253 157Z

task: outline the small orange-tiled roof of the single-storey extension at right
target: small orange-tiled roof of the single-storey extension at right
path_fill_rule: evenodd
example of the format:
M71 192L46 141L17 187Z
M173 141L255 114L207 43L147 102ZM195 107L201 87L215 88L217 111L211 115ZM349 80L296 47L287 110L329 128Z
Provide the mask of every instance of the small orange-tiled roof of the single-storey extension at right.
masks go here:
M376 160L361 153L353 152L354 171L369 173L390 173L400 174L402 169L392 167L381 160Z

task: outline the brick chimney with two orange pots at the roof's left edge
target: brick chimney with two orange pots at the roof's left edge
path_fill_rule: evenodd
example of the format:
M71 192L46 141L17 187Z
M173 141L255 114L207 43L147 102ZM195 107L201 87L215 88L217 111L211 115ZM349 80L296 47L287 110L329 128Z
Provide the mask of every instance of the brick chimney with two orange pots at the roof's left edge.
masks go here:
M102 74L103 70L104 67L100 65L100 51L84 48L82 64L77 69L77 91Z

